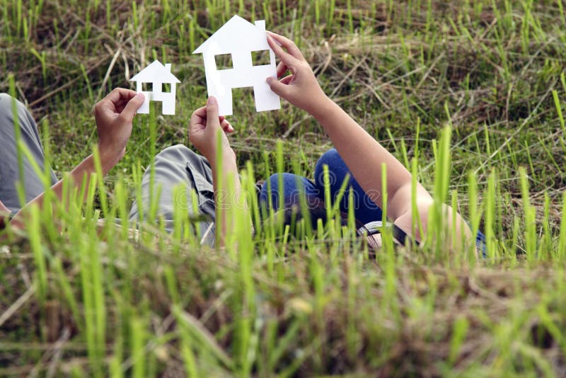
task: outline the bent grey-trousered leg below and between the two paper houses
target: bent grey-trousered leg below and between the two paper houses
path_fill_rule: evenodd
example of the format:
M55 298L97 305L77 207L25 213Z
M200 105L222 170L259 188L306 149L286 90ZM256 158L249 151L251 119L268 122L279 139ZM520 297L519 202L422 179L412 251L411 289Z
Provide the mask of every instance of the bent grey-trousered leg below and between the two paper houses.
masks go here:
M148 168L141 181L141 209L137 200L132 204L129 219L138 221L140 211L142 219L146 219L151 207L150 203L151 169ZM161 187L161 195L156 199L157 216L163 217L166 229L173 231L173 214L175 205L183 207L191 215L204 215L208 220L196 224L197 234L203 244L214 246L214 189L212 187L212 171L204 157L195 154L183 144L177 144L161 151L155 157L154 195ZM175 197L175 187L183 185L184 188ZM195 190L198 197L199 214L193 214L193 202L190 195Z

